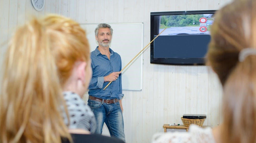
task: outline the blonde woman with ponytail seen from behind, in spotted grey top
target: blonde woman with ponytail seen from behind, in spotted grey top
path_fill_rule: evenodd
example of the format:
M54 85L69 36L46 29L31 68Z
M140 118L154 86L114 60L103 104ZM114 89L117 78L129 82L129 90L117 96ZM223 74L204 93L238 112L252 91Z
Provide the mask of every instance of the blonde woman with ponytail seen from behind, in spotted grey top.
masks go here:
M91 79L90 49L77 22L49 15L26 23L3 67L0 142L121 142L90 134L95 117L81 98Z

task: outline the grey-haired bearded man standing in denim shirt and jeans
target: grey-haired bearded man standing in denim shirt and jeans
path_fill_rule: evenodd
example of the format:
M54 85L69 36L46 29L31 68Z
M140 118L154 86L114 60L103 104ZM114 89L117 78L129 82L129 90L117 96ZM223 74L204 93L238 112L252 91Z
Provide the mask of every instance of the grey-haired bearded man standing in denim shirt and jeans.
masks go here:
M92 79L89 85L88 105L94 112L97 125L96 133L102 133L104 122L112 137L125 141L123 106L121 99L121 57L109 48L113 29L101 23L95 29L98 46L91 52ZM105 89L103 88L110 82Z

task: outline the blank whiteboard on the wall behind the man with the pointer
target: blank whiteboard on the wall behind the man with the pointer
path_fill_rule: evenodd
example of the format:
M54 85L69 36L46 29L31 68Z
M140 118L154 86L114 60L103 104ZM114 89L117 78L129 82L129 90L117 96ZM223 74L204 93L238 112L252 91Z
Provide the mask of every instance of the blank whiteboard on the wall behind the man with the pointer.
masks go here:
M80 24L86 31L91 51L94 51L98 46L94 33L98 24ZM107 24L113 29L109 47L121 56L123 69L143 49L143 23ZM123 90L142 89L142 52L122 71L122 88Z

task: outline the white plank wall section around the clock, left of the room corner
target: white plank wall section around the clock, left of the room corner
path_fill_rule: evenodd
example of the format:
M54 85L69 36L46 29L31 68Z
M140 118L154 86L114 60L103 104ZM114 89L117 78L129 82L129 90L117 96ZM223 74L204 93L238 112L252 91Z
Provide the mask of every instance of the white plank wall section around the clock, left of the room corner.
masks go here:
M59 14L59 7L59 0L45 0L45 8L42 11L36 11L31 0L0 0L0 63L7 49L7 42L17 26L24 24L33 16L39 17L47 13Z

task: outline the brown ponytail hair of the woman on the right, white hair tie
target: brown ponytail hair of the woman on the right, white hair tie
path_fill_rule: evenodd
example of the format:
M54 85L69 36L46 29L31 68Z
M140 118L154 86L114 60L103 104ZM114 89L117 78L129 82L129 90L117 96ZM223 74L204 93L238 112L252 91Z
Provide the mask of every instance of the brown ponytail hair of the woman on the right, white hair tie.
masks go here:
M224 90L222 142L256 142L256 56L238 61L241 50L256 50L255 13L255 0L235 0L211 27L207 59Z

